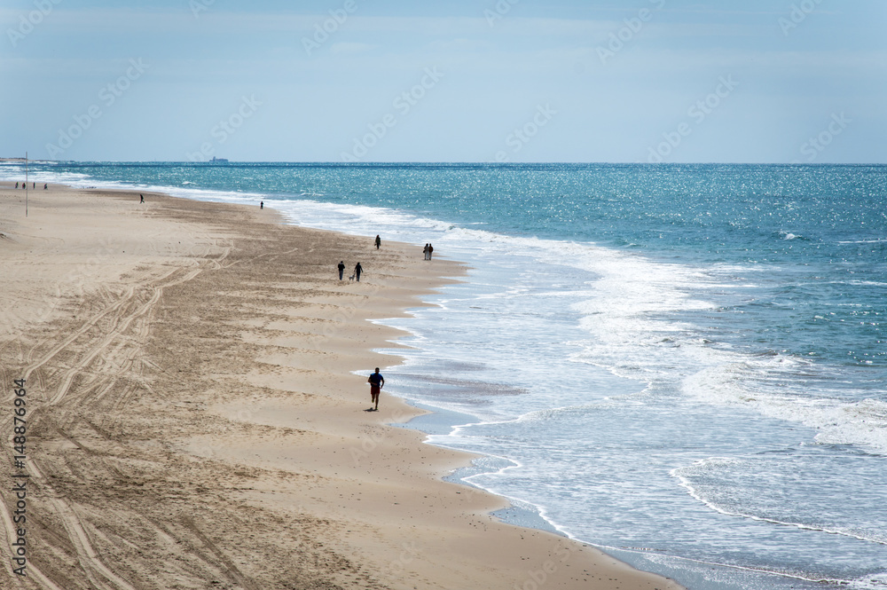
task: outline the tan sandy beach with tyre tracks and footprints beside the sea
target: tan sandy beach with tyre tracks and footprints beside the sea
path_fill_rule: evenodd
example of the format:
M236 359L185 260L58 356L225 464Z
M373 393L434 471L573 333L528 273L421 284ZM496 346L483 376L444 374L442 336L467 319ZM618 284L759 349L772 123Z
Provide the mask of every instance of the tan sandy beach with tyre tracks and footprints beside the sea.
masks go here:
M441 480L470 455L388 426L420 413L396 382L365 411L400 334L369 320L460 264L269 208L50 188L26 218L0 187L0 588L679 588L499 523L505 500Z

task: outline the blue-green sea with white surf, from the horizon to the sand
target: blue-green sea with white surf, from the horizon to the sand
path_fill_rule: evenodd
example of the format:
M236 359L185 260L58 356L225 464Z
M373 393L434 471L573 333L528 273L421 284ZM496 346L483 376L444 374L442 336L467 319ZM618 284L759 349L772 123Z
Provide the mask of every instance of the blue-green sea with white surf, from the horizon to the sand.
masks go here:
M413 347L391 350L405 360L386 378L463 416L429 441L487 456L468 483L693 590L887 587L887 167L61 162L30 174L261 199L417 256L430 241L469 278L386 320Z

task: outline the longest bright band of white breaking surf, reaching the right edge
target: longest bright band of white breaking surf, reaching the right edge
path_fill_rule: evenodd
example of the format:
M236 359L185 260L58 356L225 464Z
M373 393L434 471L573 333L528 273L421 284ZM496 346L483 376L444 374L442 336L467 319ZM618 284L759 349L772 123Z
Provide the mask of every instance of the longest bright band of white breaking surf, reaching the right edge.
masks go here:
M737 287L712 277L712 273L658 263L593 243L507 236L387 208L315 201L274 206L286 211L296 223L349 229L365 235L373 235L384 227L386 235L400 240L423 241L424 236L433 235L430 239L439 245L439 251L462 251L491 258L530 256L542 264L591 272L595 279L581 290L572 287L569 292L546 294L549 299L555 294L563 299L580 299L572 309L579 314L579 326L589 338L571 342L581 349L572 353L574 362L602 366L617 376L648 383L679 376L679 388L705 404L751 407L768 418L797 421L816 429L817 440L822 443L863 444L887 452L887 420L873 411L873 407L880 410L881 402L846 403L822 397L812 404L805 397L767 391L760 386L762 380L774 373L795 370L806 361L784 355L753 357L726 346L715 347L698 333L696 326L667 319L672 312L716 309L714 303L706 301L706 294L715 288ZM763 269L722 265L714 271L723 276ZM504 294L487 294L479 299L494 301L493 311L506 313L520 307L523 295L527 295L526 289L515 285Z

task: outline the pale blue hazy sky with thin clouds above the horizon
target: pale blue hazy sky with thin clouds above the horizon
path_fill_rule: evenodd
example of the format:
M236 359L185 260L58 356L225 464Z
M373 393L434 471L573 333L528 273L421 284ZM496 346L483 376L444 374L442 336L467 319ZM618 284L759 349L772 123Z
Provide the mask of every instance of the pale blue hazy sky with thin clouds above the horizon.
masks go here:
M884 0L4 0L0 156L887 163Z

